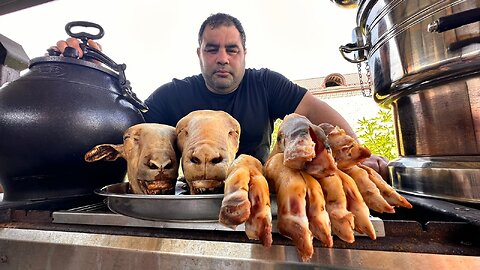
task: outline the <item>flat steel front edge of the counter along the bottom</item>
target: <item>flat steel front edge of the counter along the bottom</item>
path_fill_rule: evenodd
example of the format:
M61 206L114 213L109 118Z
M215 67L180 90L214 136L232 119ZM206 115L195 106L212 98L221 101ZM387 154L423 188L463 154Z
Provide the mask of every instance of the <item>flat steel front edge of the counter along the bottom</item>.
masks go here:
M0 228L1 269L480 269L480 257Z

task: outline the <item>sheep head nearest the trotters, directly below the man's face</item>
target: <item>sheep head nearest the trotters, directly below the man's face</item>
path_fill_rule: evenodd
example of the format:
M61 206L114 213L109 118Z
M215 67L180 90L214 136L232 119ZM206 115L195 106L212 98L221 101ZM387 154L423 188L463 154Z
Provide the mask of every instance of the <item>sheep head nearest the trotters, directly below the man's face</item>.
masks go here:
M240 144L238 121L223 111L194 111L178 121L177 138L190 193L223 193Z

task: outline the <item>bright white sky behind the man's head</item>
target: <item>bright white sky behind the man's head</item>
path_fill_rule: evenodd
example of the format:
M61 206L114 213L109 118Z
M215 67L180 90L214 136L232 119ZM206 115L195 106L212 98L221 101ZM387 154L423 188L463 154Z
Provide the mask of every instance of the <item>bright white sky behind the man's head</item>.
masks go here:
M249 68L291 80L357 72L338 51L352 41L357 10L330 0L56 0L1 15L0 34L35 58L68 37L68 22L97 23L105 31L103 52L127 65L126 77L143 100L172 78L200 73L198 29L217 12L241 21Z

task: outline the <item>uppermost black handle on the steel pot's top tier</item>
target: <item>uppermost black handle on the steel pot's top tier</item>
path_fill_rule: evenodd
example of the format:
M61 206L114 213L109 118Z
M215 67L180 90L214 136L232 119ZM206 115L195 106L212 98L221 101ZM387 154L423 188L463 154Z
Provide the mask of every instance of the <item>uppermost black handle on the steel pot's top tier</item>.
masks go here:
M474 8L440 17L428 25L427 31L442 33L478 21L480 21L480 8Z

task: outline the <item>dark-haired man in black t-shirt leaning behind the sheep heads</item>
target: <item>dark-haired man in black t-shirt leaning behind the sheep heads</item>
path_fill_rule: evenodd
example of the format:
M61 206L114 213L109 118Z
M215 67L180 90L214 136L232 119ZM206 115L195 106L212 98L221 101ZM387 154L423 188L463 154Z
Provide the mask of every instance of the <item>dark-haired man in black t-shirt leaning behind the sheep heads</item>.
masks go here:
M238 19L223 13L209 16L200 27L198 43L202 73L174 79L154 91L145 101L147 122L175 126L194 110L228 112L242 128L239 154L253 155L262 163L269 154L274 121L293 112L314 124L337 125L356 138L338 112L305 88L268 69L245 69L246 36ZM91 40L89 45L100 49ZM57 42L61 52L66 46L81 51L77 39ZM386 175L384 158L373 155L366 163Z

